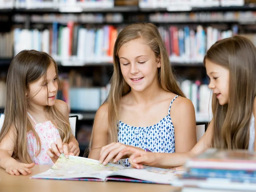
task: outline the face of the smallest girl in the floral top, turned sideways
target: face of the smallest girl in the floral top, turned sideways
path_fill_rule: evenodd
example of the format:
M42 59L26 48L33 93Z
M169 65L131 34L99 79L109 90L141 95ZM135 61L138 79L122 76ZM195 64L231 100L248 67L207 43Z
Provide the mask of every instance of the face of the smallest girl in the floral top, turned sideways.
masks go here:
M54 64L47 69L47 79L42 76L37 81L29 84L27 97L32 106L52 106L55 104L55 96L58 91L57 74Z

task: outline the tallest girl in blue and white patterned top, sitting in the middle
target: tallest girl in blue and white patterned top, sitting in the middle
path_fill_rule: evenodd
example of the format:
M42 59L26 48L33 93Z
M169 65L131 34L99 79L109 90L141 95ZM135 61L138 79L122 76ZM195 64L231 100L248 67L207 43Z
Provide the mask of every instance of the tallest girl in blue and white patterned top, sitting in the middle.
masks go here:
M113 76L96 113L89 158L108 163L124 148L185 152L196 143L195 109L172 72L156 26L125 27L114 45ZM118 163L129 166L128 160Z

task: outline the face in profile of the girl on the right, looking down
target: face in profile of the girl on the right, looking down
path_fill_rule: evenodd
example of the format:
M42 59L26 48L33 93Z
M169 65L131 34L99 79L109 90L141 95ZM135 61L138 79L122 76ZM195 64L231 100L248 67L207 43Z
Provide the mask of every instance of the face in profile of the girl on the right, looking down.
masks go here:
M207 75L210 78L208 87L219 100L220 105L225 105L229 100L230 72L227 68L212 63L208 59L205 61Z

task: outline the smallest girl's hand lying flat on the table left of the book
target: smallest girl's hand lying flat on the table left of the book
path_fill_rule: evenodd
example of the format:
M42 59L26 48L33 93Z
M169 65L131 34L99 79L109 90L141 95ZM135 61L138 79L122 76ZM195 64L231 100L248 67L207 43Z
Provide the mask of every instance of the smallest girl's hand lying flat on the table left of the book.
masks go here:
M6 172L11 174L11 175L28 175L31 173L30 168L35 166L35 163L15 163L9 166L6 166Z

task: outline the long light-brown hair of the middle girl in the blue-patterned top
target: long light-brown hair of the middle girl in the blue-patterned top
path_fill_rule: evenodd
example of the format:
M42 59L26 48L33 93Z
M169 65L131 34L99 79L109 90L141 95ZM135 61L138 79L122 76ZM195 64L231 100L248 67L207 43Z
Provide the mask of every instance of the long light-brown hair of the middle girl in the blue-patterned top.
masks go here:
M134 23L126 26L118 35L114 45L113 75L111 77L111 88L106 99L108 103L108 142L117 142L118 134L118 112L122 96L131 91L131 87L125 82L122 76L118 52L123 44L128 41L143 38L153 50L156 59L161 59L161 67L158 68L158 84L168 92L185 97L180 89L172 72L169 55L157 27L152 23ZM92 145L92 138L89 150Z

